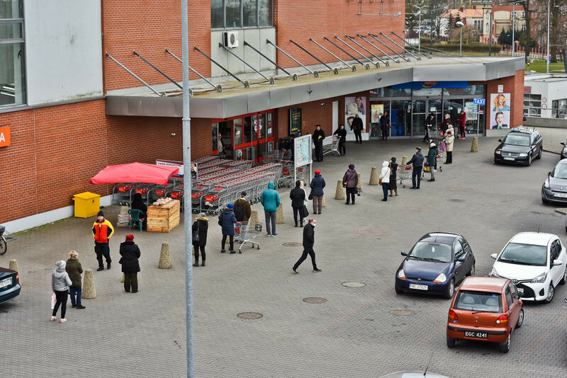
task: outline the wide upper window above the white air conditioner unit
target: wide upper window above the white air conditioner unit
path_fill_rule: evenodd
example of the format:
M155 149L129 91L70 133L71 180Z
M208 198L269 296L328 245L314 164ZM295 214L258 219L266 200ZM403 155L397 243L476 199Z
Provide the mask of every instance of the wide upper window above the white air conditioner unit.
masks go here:
M271 26L272 0L210 0L210 28Z

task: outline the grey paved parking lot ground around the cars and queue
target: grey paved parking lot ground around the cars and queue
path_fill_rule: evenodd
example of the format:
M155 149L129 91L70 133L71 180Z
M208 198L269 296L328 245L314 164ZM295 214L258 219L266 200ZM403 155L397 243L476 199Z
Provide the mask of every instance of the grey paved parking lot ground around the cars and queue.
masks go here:
M541 130L546 150L565 139L563 130ZM326 207L316 215L315 253L320 273L301 255L302 229L293 227L289 189L281 188L285 224L276 238L261 236L260 249L220 253L220 227L209 222L206 267L193 268L196 377L379 377L425 370L449 377L566 377L567 287L551 304L524 303L525 321L512 334L510 353L498 345L445 343L449 300L394 292L394 275L415 241L430 231L451 231L468 240L477 275L488 275L490 253L520 231L558 234L565 219L541 203L540 190L558 155L544 152L531 167L495 166L498 138L457 140L454 164L420 190L398 185L398 197L381 202L369 184L372 166L410 157L420 139L347 143L347 156L314 163L327 182ZM554 141L554 142L552 142ZM551 143L550 143L551 142ZM548 147L549 144L549 147ZM353 163L362 175L357 204L335 200L337 181ZM429 174L425 175L425 180ZM262 206L253 205L262 218ZM311 207L309 207L311 210ZM118 207L103 209L116 224ZM1 377L179 377L186 374L184 229L169 234L135 231L140 246L140 292L120 283L118 246L128 228L111 239L113 268L94 272L96 299L86 309L67 308L67 323L51 322L50 275L55 261L79 252L83 268L96 270L90 229L95 217L69 218L17 235L0 266L18 261L22 292L0 305L4 341ZM173 268L157 268L162 242ZM344 282L361 282L347 287ZM310 300L307 298L322 298ZM309 303L323 302L323 303ZM241 319L253 312L260 319ZM9 340L9 343L6 343Z

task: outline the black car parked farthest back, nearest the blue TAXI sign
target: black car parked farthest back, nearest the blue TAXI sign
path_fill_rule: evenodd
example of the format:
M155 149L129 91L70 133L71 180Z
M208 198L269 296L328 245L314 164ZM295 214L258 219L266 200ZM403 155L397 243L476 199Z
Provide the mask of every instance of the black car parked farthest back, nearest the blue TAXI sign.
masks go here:
M532 165L534 158L541 159L543 138L536 129L515 127L504 137L498 139L494 150L494 163Z

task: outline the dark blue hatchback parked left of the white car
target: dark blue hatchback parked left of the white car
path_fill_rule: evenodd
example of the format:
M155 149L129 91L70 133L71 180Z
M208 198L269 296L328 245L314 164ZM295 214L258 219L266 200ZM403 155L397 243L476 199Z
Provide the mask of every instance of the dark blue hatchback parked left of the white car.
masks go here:
M455 285L474 275L475 258L465 238L435 232L421 237L395 273L395 292L441 294L450 299Z

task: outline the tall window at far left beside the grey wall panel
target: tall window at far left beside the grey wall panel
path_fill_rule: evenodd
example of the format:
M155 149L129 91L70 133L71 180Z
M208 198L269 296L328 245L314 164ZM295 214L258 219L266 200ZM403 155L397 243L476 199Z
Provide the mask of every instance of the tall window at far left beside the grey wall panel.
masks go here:
M0 1L0 107L26 103L23 0Z

